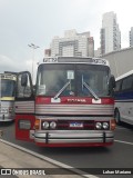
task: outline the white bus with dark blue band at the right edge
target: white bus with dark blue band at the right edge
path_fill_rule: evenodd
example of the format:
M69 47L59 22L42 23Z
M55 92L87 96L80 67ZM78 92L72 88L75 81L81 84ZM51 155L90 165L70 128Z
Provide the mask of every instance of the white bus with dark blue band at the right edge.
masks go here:
M133 125L133 70L115 79L115 110L116 123L121 121Z

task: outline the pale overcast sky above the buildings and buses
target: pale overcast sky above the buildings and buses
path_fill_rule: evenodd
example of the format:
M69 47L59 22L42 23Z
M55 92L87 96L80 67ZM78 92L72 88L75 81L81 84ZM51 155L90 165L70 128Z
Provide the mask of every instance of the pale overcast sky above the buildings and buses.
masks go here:
M52 38L70 29L90 31L99 48L102 14L109 11L116 13L122 48L129 47L133 0L0 0L0 72L31 71L33 51L28 44L40 47L34 50L37 63Z

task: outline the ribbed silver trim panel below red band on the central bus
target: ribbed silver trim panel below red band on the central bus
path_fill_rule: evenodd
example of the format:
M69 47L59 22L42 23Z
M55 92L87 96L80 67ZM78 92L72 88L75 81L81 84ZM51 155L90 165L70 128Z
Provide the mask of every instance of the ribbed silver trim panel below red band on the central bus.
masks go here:
M37 105L37 115L113 115L113 105Z

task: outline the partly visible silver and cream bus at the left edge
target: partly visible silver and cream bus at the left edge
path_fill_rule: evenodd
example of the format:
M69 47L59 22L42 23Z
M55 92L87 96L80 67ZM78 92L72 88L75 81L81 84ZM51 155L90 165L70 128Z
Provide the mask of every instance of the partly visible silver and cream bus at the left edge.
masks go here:
M0 73L0 121L14 120L14 93L17 75L14 72Z

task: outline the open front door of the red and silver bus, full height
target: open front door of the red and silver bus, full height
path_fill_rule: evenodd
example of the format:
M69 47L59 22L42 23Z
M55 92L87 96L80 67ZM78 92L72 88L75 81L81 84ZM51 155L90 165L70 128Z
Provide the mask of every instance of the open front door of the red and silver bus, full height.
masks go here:
M16 139L32 141L34 126L34 93L29 71L17 76Z

